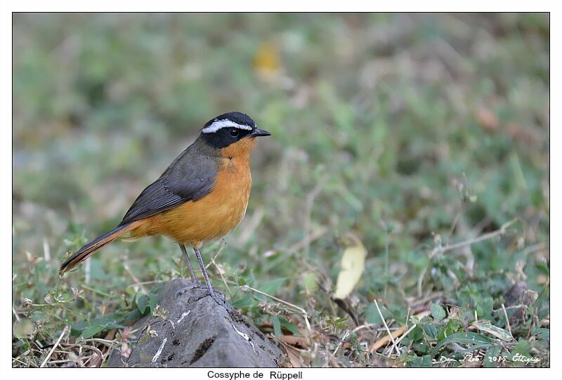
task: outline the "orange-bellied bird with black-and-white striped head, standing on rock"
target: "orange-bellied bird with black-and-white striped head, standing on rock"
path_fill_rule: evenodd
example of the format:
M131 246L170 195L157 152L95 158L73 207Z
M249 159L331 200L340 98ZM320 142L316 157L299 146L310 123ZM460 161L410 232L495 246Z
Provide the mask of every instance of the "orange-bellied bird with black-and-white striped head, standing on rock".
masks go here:
M242 112L209 120L195 141L138 195L121 223L68 257L59 275L119 237L164 235L179 245L193 286L206 287L211 298L225 306L211 285L200 249L244 218L251 190L250 152L257 137L270 135ZM195 276L186 245L195 252L204 285Z

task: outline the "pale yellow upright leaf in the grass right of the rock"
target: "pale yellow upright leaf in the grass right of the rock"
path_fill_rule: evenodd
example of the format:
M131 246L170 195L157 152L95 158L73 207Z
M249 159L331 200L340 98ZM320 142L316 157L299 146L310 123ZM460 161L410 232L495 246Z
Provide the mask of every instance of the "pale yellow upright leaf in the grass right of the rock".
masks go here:
M345 299L361 278L363 270L365 270L365 257L367 250L363 247L360 240L349 235L351 245L344 251L341 257L341 271L336 282L336 299Z

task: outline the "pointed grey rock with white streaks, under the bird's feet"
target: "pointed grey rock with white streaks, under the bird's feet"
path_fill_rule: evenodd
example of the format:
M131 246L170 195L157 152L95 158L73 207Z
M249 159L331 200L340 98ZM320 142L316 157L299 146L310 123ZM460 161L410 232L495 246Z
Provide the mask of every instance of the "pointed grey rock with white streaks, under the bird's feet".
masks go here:
M124 358L114 350L110 367L278 367L281 351L236 310L228 313L207 289L178 278L159 292L159 313L133 325L137 343ZM150 326L150 327L149 327ZM147 327L150 330L147 330ZM150 334L148 333L150 331Z

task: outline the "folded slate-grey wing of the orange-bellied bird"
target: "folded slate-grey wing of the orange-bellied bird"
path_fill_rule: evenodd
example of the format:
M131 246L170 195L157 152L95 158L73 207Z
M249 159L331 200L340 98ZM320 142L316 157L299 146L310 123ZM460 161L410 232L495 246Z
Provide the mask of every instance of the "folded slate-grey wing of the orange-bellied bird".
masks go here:
M194 159L185 153L141 192L119 225L174 209L188 201L195 202L213 190L216 162L206 156Z

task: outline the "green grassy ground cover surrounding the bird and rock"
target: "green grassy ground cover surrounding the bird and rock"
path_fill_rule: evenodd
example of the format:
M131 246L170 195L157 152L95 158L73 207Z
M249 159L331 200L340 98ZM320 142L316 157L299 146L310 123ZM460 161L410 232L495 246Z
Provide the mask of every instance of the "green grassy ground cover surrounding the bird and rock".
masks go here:
M138 338L124 328L155 311L152 286L185 274L176 244L115 242L62 279L58 266L230 110L273 137L210 270L263 331L303 336L283 346L292 365L550 365L548 15L13 21L13 366L103 365ZM349 233L368 255L343 305L330 294ZM505 305L516 281L535 300L523 308ZM306 310L311 331L249 288ZM410 330L391 353L371 352L387 336L374 300Z

